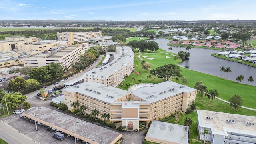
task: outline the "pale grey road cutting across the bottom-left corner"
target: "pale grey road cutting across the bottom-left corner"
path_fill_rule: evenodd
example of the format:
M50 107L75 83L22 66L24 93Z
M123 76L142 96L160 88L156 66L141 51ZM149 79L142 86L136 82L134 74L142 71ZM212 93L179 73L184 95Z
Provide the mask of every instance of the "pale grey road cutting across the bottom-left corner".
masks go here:
M8 144L39 144L0 120L0 138Z

